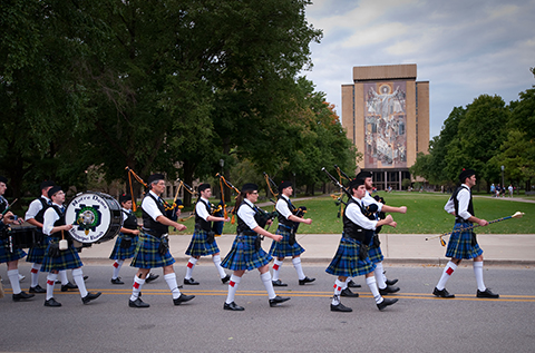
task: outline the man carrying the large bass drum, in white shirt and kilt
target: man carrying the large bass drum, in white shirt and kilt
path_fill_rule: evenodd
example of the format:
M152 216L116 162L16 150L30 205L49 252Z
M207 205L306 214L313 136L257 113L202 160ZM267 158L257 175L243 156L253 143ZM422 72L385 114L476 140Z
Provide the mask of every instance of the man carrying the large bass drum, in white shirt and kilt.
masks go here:
M49 272L47 276L47 297L45 306L61 306L54 297L54 284L58 277L58 272L61 269L72 269L72 277L75 278L78 290L80 291L81 302L88 304L100 296L100 292L89 293L86 290L84 282L84 273L81 272L80 256L72 244L69 244L67 249L60 249L59 242L62 238L69 238L68 232L72 228L72 224L66 224L65 219L65 193L60 186L52 186L48 190L48 197L52 205L45 212L42 233L47 235L48 247L45 252L41 272Z

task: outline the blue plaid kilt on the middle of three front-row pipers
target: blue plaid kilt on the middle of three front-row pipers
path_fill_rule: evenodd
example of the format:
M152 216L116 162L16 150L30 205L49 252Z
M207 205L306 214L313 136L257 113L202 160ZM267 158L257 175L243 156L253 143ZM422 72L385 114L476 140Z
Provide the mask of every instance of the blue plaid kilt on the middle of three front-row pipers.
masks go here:
M221 262L221 266L232 271L255 269L268 265L273 259L261 247L256 251L254 242L256 236L239 235L232 244L231 251Z

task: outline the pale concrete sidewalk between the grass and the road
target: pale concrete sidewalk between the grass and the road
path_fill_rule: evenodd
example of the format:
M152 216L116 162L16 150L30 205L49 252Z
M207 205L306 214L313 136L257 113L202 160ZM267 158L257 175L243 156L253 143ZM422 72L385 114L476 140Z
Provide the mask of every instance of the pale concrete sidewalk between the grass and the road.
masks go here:
M296 239L305 252L301 255L303 263L329 264L337 252L340 234L298 234ZM399 265L445 265L448 258L446 247L440 246L438 238L426 242L426 234L381 234L381 249L385 263ZM184 254L191 235L172 235L169 248L175 259L184 264L188 256ZM228 253L234 235L223 235L216 238L224 257ZM264 251L269 251L271 239L262 242ZM535 234L480 234L478 242L484 251L485 265L498 266L535 266ZM80 257L87 264L109 264L109 254L115 239L101 244L94 244L84 248ZM211 256L201 257L198 264L212 264ZM465 265L470 262L464 262Z

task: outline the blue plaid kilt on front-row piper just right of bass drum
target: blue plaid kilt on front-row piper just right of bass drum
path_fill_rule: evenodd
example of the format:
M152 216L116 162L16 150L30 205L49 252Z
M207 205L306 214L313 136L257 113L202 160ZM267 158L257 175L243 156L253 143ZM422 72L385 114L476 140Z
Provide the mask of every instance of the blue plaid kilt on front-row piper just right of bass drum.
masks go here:
M159 239L157 237L144 232L139 233L130 266L136 268L155 268L173 265L175 259L171 256L169 249L162 256L159 255L158 247Z

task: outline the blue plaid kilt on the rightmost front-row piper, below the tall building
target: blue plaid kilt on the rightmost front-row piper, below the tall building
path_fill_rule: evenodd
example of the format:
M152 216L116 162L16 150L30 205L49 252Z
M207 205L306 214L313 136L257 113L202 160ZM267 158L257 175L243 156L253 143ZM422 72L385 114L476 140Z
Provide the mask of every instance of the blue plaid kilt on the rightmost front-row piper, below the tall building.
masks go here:
M334 276L356 277L376 269L376 264L367 257L359 259L360 245L356 239L342 235L338 251L325 272Z

